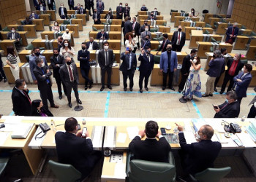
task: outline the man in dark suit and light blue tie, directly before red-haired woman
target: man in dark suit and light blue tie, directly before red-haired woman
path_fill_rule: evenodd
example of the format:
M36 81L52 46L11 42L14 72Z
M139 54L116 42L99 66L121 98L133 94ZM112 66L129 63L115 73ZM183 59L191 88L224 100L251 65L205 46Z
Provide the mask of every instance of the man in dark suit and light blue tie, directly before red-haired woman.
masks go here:
M129 78L129 90L132 92L133 76L137 67L137 58L135 53L132 52L132 47L129 47L129 51L122 52L121 54L121 66L119 68L123 74L124 91L127 91L127 78Z

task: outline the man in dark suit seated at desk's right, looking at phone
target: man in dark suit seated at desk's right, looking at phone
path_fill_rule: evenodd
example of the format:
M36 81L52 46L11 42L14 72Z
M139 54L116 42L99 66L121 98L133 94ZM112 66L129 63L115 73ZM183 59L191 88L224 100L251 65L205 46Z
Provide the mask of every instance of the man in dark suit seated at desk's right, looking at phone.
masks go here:
M214 118L236 118L240 113L240 103L237 101L237 95L235 91L228 91L225 99L225 103L214 108L216 114Z

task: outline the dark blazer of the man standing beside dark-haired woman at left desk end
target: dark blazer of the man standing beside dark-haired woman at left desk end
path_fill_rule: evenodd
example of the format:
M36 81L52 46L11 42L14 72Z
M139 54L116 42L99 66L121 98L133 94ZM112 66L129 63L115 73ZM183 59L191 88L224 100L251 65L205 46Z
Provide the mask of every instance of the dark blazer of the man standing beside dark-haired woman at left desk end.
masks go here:
M29 97L29 90L24 90L26 92L26 95ZM20 90L18 90L16 87L13 87L12 89L12 110L14 111L15 115L18 116L30 116L31 111L31 104L29 102L29 99L26 97L26 95L23 95Z

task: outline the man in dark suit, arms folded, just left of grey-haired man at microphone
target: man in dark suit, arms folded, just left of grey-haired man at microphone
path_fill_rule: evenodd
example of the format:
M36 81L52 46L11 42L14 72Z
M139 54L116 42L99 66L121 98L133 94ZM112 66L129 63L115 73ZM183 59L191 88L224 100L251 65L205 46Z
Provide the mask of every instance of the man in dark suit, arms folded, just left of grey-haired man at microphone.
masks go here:
M53 50L53 56L50 57L50 64L53 68L53 77L56 80L56 84L58 85L58 92L59 92L59 99L62 98L62 92L61 92L61 75L59 74L59 68L65 64L65 60L63 55L59 55L59 50L54 49ZM66 94L66 87L64 84L63 85L63 90L64 93ZM67 94L66 94L67 95Z

